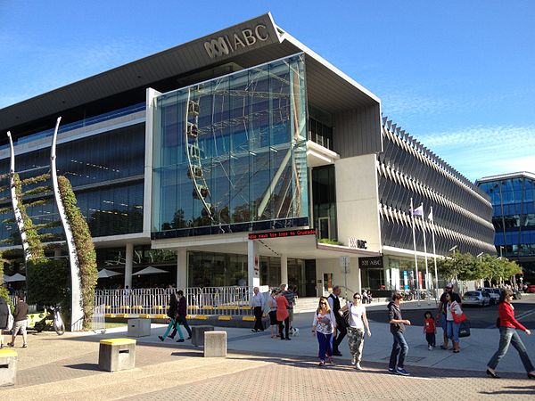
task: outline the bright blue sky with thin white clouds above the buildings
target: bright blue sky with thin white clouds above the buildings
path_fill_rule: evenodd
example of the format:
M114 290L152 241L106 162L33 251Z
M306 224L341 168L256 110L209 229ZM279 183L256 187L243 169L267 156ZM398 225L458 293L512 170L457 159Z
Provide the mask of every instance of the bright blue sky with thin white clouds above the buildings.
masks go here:
M0 109L264 12L468 179L535 173L532 0L0 0Z

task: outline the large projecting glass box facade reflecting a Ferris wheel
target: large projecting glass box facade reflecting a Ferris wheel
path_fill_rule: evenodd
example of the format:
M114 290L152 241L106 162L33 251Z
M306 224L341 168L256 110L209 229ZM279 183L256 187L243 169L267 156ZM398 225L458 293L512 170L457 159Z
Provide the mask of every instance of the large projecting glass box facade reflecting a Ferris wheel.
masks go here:
M303 57L156 99L153 239L309 224Z

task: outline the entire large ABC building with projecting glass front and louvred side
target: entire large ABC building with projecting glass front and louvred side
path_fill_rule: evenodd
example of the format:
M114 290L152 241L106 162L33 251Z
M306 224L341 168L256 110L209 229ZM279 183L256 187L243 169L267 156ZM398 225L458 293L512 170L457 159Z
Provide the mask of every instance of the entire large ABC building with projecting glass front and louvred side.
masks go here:
M414 285L411 198L425 217L433 207L437 254L494 250L488 196L269 13L0 110L21 176L46 171L58 116L59 173L99 268L125 285L290 282L301 296L345 279L350 291ZM3 188L0 235L16 253ZM53 220L39 201L25 199L34 223ZM420 269L430 230L416 219ZM55 238L49 252L63 246ZM136 275L146 266L167 273Z

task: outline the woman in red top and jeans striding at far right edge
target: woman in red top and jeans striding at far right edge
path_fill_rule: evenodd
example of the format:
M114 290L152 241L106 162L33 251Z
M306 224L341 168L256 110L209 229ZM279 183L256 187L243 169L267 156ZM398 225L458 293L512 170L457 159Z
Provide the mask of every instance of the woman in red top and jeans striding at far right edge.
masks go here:
M524 365L526 372L528 372L528 379L535 379L535 369L533 364L531 364L530 356L523 345L520 336L516 332L516 329L525 331L527 335L531 334L531 331L526 329L521 323L519 323L514 318L514 307L511 305L513 300L513 291L504 290L499 296L499 348L496 351L487 364L487 374L490 377L498 379L499 376L496 374L496 366L501 358L503 358L507 353L507 348L509 344L513 344L513 347L518 351L520 359Z

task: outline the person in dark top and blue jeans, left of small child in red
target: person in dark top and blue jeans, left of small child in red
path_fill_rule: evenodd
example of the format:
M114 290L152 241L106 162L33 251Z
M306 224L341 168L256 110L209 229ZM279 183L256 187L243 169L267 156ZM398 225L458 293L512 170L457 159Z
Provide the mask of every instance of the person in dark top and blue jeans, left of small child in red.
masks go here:
M392 300L388 304L388 320L391 326L392 337L394 338L388 372L397 373L401 376L409 376L410 373L405 370L408 345L403 332L405 331L406 324L410 326L410 321L403 319L401 316L401 299L403 299L403 294L396 292L392 295Z

